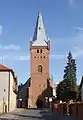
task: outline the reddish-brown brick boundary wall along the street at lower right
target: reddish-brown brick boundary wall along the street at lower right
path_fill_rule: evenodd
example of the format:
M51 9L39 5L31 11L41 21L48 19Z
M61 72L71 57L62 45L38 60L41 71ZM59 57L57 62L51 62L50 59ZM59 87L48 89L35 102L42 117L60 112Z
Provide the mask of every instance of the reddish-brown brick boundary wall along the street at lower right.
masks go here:
M57 104L57 110L61 115L66 115L67 109L66 109L67 104ZM79 103L73 103L69 104L69 113L73 118L77 118L79 120L83 120L83 102Z

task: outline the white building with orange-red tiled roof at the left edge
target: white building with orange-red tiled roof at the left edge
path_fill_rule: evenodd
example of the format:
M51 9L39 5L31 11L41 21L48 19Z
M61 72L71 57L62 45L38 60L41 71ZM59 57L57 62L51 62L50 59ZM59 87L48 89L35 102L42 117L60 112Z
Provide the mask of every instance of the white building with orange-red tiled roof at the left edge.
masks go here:
M17 77L12 69L0 64L0 113L16 108Z

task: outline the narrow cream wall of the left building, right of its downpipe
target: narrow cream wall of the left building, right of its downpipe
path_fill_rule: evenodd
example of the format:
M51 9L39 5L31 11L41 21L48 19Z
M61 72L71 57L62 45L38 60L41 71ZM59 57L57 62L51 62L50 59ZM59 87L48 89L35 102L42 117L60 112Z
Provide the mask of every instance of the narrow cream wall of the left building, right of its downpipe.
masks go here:
M10 72L10 111L16 108L16 94L13 92L13 75Z

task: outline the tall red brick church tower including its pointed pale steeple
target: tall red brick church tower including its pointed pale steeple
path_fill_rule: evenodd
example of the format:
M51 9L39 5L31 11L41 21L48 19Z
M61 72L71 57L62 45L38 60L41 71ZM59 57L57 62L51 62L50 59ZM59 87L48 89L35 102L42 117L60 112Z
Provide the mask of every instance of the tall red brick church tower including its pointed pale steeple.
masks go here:
M30 87L28 107L35 108L37 100L45 101L48 87L50 41L47 40L42 14L38 13L32 41L30 41Z

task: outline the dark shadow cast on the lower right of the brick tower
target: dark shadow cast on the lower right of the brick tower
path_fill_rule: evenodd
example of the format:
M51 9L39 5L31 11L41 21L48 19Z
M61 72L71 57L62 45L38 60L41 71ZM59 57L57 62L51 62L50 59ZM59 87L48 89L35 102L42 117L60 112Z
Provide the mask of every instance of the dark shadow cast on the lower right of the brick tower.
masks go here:
M49 108L50 107L50 103L48 99L49 97L53 97L52 87L50 86L46 88L41 95L38 96L36 101L37 108Z

